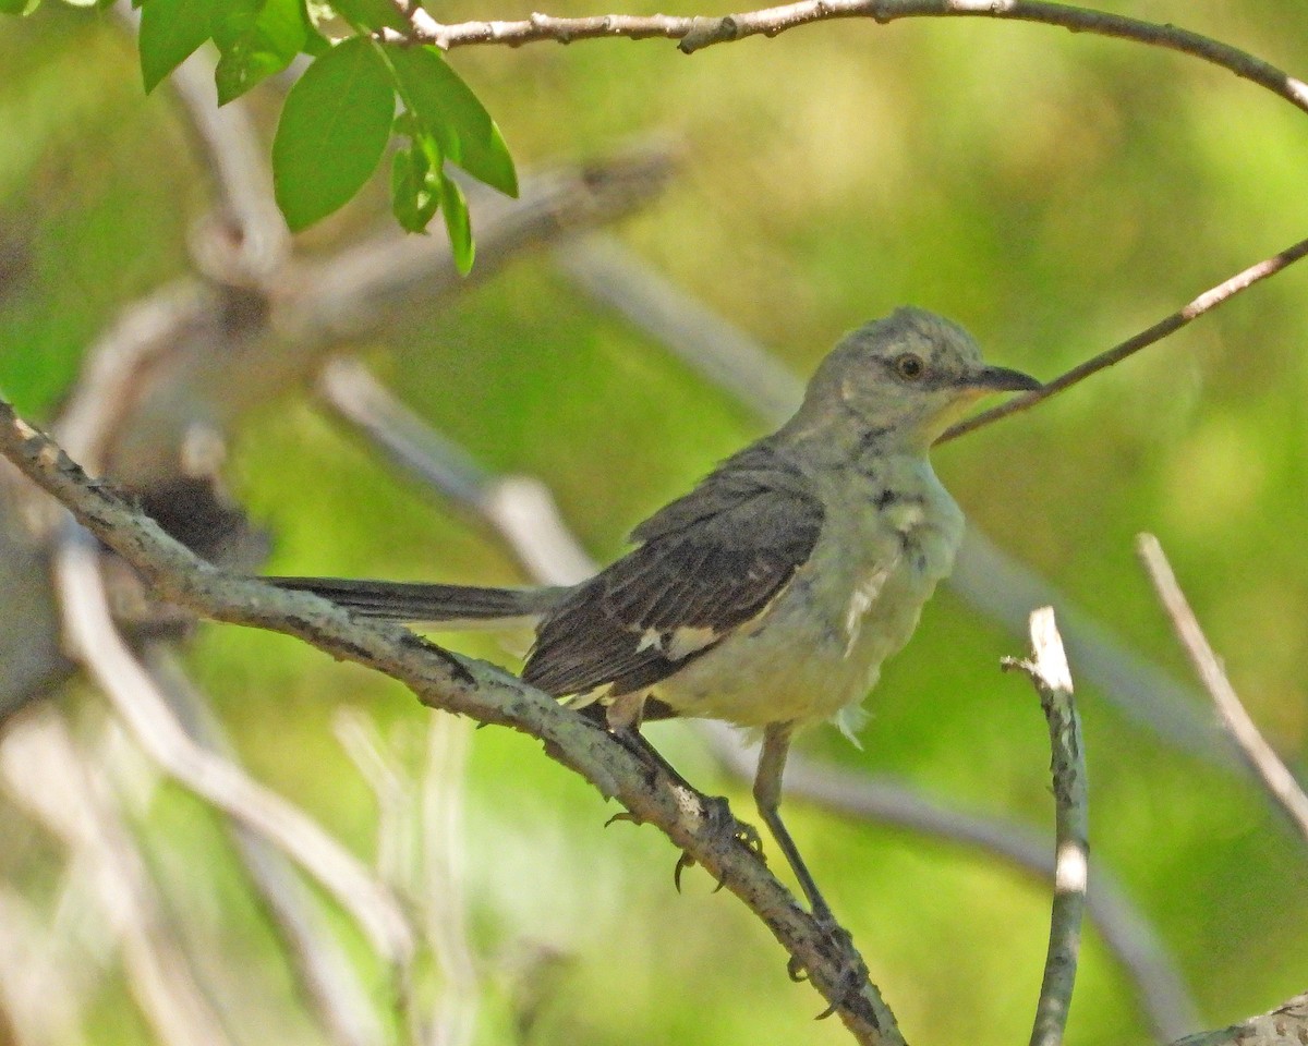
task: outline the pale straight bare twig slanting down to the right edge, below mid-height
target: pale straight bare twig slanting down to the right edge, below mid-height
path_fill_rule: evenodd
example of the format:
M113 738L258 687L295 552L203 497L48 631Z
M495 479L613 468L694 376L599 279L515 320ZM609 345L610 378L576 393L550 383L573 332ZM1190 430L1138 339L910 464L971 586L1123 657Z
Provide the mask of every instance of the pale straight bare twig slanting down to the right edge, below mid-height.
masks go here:
M1185 647L1196 675L1203 683L1203 689L1213 698L1213 703L1222 717L1222 723L1235 740L1240 754L1266 787L1267 794L1286 812L1291 824L1299 829L1299 834L1308 843L1308 795L1304 794L1303 787L1295 781L1295 775L1281 761L1281 757L1258 732L1249 713L1245 711L1239 694L1222 668L1220 659L1213 652L1194 611L1190 609L1159 540L1151 533L1142 533L1137 547L1150 581L1154 582L1154 590L1158 592L1167 616L1172 618L1172 628L1176 629L1176 635L1181 641L1181 646Z

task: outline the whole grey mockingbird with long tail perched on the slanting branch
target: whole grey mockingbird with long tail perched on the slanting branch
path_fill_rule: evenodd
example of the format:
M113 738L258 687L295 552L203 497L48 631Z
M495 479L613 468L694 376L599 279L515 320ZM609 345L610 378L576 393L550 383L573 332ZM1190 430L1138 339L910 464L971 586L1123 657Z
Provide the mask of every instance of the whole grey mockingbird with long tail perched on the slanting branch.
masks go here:
M853 734L882 662L908 642L954 565L963 513L931 471L931 443L982 395L1039 387L986 366L950 320L900 309L842 339L794 417L654 513L632 532L636 548L589 581L271 581L388 621L531 622L522 679L664 769L637 732L642 720L685 715L761 731L759 813L814 915L832 922L778 812L790 740L821 720Z

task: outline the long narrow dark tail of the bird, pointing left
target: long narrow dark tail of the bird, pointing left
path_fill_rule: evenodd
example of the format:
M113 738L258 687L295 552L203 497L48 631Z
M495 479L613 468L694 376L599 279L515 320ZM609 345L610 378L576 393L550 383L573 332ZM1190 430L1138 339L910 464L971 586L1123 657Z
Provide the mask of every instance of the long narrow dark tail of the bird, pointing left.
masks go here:
M279 588L339 603L360 617L458 628L511 628L532 624L569 590L481 588L475 584L371 581L368 578L262 578Z

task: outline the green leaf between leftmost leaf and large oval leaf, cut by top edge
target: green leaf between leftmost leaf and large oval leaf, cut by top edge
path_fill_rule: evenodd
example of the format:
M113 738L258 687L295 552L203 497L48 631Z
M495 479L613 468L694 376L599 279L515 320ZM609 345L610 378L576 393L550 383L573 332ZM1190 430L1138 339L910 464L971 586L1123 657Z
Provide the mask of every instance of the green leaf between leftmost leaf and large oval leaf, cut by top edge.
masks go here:
M218 105L285 69L309 38L301 0L228 0L215 12Z

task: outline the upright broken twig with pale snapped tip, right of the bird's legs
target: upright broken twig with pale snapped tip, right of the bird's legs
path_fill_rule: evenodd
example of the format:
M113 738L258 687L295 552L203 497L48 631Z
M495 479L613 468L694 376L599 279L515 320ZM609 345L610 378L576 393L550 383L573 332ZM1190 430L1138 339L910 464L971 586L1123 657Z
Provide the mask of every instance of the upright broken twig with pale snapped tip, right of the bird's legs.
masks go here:
M1071 671L1067 668L1053 607L1042 607L1031 615L1031 660L1006 658L1003 666L1020 669L1031 677L1040 693L1040 707L1049 720L1056 812L1054 902L1031 1046L1058 1046L1067 1026L1067 1011L1076 982L1080 920L1086 909L1090 794L1080 722L1073 701Z

